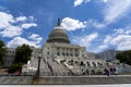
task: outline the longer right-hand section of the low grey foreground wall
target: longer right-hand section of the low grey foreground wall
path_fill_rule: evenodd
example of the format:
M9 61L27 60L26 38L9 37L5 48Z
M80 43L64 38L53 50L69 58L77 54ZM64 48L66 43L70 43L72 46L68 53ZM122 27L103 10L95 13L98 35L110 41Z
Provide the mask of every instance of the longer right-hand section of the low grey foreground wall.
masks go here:
M131 84L130 75L120 76L43 76L36 78L33 84L56 84L56 85L103 85L103 84Z

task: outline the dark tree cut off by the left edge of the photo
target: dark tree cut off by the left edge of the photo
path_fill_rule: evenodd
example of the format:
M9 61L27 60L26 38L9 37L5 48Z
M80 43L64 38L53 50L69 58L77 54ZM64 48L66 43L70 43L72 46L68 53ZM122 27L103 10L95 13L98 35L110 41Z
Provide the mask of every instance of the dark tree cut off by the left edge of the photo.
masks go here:
M0 40L0 65L3 64L3 58L4 58L5 52L7 52L5 45L2 40Z

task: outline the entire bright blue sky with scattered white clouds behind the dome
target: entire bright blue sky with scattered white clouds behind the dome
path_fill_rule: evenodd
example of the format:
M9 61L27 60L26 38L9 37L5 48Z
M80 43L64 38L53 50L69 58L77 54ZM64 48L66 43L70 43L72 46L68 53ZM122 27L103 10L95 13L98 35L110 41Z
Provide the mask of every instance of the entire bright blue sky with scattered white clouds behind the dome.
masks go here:
M90 52L131 49L131 0L0 0L0 39L41 47L57 18Z

